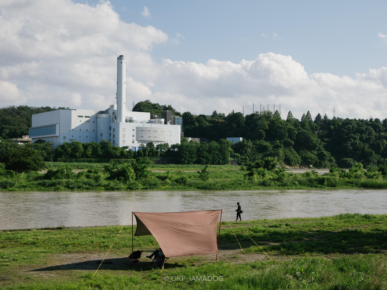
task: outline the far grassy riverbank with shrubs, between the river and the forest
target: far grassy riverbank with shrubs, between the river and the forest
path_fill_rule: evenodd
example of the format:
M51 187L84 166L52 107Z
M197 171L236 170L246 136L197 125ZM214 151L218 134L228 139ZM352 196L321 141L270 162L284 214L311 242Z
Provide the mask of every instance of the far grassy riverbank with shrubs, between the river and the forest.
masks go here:
M361 165L361 164L360 164ZM315 171L231 165L149 165L48 162L45 174L38 172L0 175L0 190L7 191L125 191L125 190L257 190L308 188L387 188L379 171L353 167L324 175ZM74 173L72 169L88 169ZM166 172L157 172L166 171Z

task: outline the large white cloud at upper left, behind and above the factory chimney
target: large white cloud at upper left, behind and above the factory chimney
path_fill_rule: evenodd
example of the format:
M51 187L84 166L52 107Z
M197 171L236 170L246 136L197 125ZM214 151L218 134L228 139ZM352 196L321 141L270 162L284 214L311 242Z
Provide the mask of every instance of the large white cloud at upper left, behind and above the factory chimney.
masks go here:
M107 1L9 2L0 12L0 106L104 109L115 100L116 57L152 78L152 47L168 41L160 29L121 21Z

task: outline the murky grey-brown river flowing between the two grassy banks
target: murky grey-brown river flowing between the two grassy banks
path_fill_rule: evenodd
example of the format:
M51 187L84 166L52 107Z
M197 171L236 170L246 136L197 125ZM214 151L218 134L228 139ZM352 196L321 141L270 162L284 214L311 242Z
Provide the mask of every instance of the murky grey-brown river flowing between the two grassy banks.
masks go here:
M223 209L233 220L387 214L385 189L271 191L0 192L0 230L132 224L133 212ZM128 218L127 218L128 217Z

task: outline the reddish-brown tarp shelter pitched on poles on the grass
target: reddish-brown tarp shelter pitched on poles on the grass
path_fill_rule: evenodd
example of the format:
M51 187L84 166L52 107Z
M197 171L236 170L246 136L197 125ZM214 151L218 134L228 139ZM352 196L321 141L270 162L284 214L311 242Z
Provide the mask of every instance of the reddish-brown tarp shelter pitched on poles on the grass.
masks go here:
M221 210L132 214L137 221L134 235L153 235L166 257L218 254Z

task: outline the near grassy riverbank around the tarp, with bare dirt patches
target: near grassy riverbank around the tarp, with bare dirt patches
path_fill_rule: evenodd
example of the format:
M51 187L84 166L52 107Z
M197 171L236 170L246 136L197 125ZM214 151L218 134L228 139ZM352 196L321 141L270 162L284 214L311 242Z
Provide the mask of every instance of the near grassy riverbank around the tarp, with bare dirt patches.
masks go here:
M141 263L128 261L131 227L0 231L0 287L5 289L387 289L387 215L228 222L214 255L173 257L165 269L145 258L152 236L134 238ZM234 233L241 244L240 248ZM270 256L266 256L250 236ZM231 263L229 263L229 260ZM164 281L164 276L170 278ZM184 281L171 281L185 276ZM189 281L189 277L223 281Z

